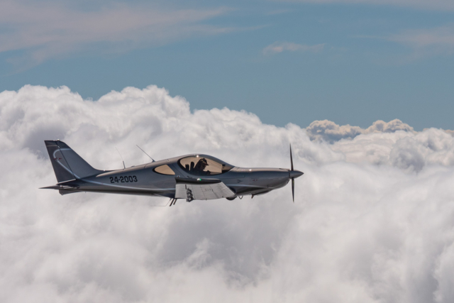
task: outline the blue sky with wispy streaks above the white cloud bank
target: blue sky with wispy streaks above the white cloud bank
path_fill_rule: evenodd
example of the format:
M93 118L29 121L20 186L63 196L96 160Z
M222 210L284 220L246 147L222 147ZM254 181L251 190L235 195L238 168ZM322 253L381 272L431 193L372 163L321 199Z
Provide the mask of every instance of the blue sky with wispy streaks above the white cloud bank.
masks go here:
M453 17L445 0L2 1L0 91L156 84L277 126L453 129Z

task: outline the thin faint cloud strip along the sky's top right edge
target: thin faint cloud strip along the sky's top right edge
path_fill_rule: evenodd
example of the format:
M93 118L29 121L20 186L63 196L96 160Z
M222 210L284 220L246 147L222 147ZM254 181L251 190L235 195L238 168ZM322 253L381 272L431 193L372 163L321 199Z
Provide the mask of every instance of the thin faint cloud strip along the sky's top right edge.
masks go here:
M284 0L285 1L285 0ZM412 9L454 10L450 0L288 0L288 2L302 2L314 4L372 4L387 6L403 6Z

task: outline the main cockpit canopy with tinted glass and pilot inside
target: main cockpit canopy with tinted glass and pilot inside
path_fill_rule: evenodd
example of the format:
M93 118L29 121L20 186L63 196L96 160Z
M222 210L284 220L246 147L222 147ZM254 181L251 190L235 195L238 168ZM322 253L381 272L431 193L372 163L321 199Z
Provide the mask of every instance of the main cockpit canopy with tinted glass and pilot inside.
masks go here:
M219 175L233 168L233 165L209 155L190 155L179 159L178 164L185 172L197 176Z

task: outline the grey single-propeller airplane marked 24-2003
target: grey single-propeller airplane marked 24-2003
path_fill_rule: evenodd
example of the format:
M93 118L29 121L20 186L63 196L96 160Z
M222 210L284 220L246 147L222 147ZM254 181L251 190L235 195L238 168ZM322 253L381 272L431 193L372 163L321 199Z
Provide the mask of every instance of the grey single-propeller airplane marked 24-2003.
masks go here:
M152 158L153 162L128 168L123 162L124 168L120 170L96 170L66 143L60 140L44 142L57 184L41 188L57 189L62 195L100 192L168 197L172 206L177 199L192 202L221 198L233 200L236 197L243 199L246 195L253 198L284 187L292 180L294 202L294 180L304 174L293 168L292 145L289 170L237 167L202 154L160 161Z

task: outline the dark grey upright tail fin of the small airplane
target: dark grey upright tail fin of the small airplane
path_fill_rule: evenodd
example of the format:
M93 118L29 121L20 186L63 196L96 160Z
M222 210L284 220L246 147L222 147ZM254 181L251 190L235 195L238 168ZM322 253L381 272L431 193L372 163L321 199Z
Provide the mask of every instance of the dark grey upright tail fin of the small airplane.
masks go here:
M50 162L54 168L57 181L65 182L68 180L81 179L91 175L96 175L102 170L96 170L74 152L66 143L62 141L44 141L48 149Z

